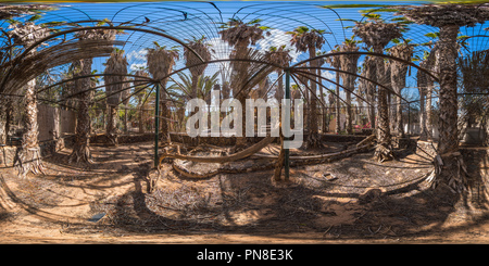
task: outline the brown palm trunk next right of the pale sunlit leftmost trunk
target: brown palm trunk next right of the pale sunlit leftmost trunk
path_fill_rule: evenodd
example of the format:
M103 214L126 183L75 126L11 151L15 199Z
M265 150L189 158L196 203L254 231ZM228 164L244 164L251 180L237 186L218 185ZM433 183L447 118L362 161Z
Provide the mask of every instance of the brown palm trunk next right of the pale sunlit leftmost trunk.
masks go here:
M91 59L85 59L82 61L80 76L89 75L91 73ZM82 92L90 87L90 78L82 78L75 81L75 88ZM70 155L70 162L85 162L92 163L90 154L90 114L89 106L91 102L91 93L89 91L79 96L78 111L77 111L77 124L75 143L73 145L72 154Z

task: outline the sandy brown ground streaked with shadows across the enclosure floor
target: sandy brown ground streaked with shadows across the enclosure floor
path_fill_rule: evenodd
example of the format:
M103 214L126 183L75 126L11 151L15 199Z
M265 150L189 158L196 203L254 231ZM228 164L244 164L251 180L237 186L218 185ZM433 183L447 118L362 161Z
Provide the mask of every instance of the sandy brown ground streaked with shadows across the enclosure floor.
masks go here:
M46 159L45 176L0 169L17 206L0 211L0 243L489 242L486 212L428 189L430 160L418 154L298 166L289 182L271 169L195 180L168 164L148 193L152 143L93 147L89 166L67 164L70 152Z

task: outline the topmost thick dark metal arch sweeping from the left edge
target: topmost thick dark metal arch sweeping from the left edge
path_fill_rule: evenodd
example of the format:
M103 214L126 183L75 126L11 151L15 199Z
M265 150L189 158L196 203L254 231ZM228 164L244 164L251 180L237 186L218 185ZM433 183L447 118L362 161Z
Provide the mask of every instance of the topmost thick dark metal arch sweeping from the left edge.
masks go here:
M143 31L143 33L149 33L149 34L153 34L153 35L159 35L161 37L171 39L179 45L181 45L183 47L187 48L189 51L191 51L200 61L204 62L204 60L192 49L190 48L187 43L185 43L184 41L171 36L171 35L166 35L163 33L159 33L159 31L154 31L154 30L150 30L150 29L146 29L146 28L134 28L134 27L127 27L127 26L93 26L93 27L79 27L79 28L72 28L72 29L66 29L66 30L62 30L62 31L58 31L54 34L51 34L42 39L37 40L36 42L34 42L32 46L29 46L28 48L26 48L24 50L24 52L22 54L20 54L17 58L15 58L12 62L12 65L15 65L17 62L22 61L33 49L35 49L36 47L40 46L42 42L48 41L50 39L53 39L58 36L61 35L65 35L65 34L71 34L71 33L77 33L77 31L82 31L82 30L87 30L87 29L124 29L124 30L136 30L136 31ZM14 69L14 67L11 67L5 76L2 79L2 83L0 85L0 91L3 91L3 88L7 84L7 80L9 79L9 76L12 74L12 71ZM100 76L100 75L99 75Z

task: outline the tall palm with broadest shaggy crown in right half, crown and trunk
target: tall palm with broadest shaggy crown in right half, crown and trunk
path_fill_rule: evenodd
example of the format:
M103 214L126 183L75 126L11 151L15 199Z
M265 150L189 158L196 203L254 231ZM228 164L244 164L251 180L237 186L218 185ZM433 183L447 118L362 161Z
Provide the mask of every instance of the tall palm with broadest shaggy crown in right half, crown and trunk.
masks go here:
M379 16L371 16L364 23L355 23L353 34L362 41L374 49L375 53L384 53L384 48L396 38L400 38L401 26L397 23L386 23ZM377 81L385 84L385 80L378 80L385 76L384 59L376 56ZM389 107L387 105L387 91L384 88L378 89L378 128L377 128L377 148L375 157L379 162L392 159L390 149L390 127L389 127Z

